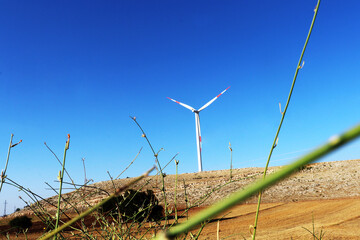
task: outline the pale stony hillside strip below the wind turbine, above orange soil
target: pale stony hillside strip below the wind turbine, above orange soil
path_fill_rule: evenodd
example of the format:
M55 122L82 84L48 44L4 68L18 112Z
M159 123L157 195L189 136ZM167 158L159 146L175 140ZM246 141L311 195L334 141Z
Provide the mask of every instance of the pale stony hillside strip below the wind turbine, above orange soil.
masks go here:
M270 167L268 174L280 167ZM242 168L232 171L232 181L229 170L207 171L201 173L186 173L178 175L177 203L185 206L210 205L232 192L238 191L262 177L263 168ZM173 204L175 195L175 175L167 175L165 179L166 200ZM115 188L129 183L133 178L118 179L94 183L82 191L79 196L68 193L70 202L79 207L88 207L99 202ZM263 194L263 202L296 202L304 200L336 199L360 196L360 160L314 163L292 175L288 179L269 188ZM149 176L134 185L134 189L150 189L155 192L161 203L164 203L161 191L160 176ZM186 194L185 194L186 192ZM79 201L86 196L86 202ZM48 199L56 205L57 196ZM76 201L73 201L76 200ZM246 203L255 203L256 198L248 199ZM46 204L50 207L48 204ZM50 207L51 208L51 207Z

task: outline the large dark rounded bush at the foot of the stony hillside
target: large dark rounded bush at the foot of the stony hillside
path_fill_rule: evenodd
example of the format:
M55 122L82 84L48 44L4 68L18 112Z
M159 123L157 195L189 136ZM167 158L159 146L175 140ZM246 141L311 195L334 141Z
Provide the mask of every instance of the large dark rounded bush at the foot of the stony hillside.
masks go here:
M117 216L124 221L158 221L163 217L163 207L151 190L139 192L127 190L122 196L113 198L100 210L103 214Z

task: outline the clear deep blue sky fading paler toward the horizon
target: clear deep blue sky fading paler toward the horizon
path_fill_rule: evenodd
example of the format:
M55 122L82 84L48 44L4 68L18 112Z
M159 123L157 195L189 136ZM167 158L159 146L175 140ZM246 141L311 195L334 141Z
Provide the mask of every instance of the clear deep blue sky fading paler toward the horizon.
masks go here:
M0 2L0 168L10 134L9 178L41 196L66 168L74 180L137 176L154 164L136 116L165 165L197 171L194 114L200 108L204 170L264 166L316 1ZM290 160L360 119L360 2L323 1L272 165ZM295 152L295 153L293 153ZM292 153L292 154L290 154ZM323 159L357 159L355 141ZM172 163L165 172L175 171ZM65 178L67 180L67 178ZM7 185L0 215L23 203Z

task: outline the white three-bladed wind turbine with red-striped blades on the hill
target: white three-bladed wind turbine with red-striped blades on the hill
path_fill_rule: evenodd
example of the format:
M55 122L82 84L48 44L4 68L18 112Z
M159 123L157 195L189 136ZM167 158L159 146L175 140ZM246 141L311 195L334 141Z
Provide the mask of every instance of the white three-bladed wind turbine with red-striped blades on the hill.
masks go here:
M200 131L200 117L199 117L199 113L204 110L205 108L207 108L210 104L212 104L216 99L218 99L218 97L220 97L224 92L226 92L226 90L228 90L230 87L226 88L224 91L222 91L219 95L217 95L216 97L214 97L213 99L211 99L209 102L207 102L204 106L202 106L201 108L199 108L198 110L196 110L195 108L185 104L185 103L181 103L179 101L176 101L174 99L171 99L168 97L168 99L170 99L173 102L176 102L178 104L180 104L181 106L191 110L193 113L195 113L195 128L196 128L196 146L197 146L197 153L198 153L198 166L199 166L199 172L202 172L202 159L201 159L201 131Z

